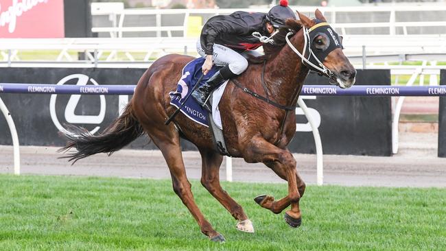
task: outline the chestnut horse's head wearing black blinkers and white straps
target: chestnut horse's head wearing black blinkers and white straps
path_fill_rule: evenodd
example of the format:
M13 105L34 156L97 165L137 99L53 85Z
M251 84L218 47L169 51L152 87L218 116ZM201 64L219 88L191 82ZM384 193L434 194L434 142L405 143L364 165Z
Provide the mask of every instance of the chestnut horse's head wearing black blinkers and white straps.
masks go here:
M342 37L330 27L320 10L315 14L316 19L312 20L298 12L306 43L303 63L329 77L332 84L349 88L355 84L356 70L342 52Z

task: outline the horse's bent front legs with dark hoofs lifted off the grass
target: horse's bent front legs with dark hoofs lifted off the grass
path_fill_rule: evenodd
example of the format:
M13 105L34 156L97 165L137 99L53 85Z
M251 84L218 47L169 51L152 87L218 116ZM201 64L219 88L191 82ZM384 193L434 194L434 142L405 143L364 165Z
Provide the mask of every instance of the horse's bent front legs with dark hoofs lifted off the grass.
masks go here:
M260 136L254 137L244 149L246 162L271 163L271 165L281 170L282 178L285 178L288 182L288 195L285 198L274 201L274 198L271 196L263 195L263 198L256 198L256 202L274 213L281 213L283 209L291 204L291 210L285 213L285 220L292 227L300 226L301 211L299 209L299 200L301 194L297 189L296 160L291 152L272 145Z

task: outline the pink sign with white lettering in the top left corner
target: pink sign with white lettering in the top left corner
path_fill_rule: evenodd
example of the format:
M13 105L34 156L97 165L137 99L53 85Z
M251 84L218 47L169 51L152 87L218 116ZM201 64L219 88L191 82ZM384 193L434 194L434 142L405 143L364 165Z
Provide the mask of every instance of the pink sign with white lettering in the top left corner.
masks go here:
M0 38L63 37L63 0L0 0Z

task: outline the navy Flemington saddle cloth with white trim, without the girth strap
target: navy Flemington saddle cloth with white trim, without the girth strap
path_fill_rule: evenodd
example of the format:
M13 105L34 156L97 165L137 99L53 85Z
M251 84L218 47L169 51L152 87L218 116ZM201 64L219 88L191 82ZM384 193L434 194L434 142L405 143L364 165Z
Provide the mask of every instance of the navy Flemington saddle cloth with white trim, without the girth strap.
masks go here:
M205 58L196 58L195 60L192 60L185 65L181 74L180 81L178 81L176 91L172 91L171 93L169 93L170 104L172 106L175 106L176 108L180 107L185 97L187 97L187 95L189 95L189 93L192 91L193 86L195 86L196 84L204 84L221 68L216 66L212 67L211 71L209 71L202 77L200 83L197 83L198 79L202 75L201 67L204 63L204 60ZM213 92L213 99L211 104L213 120L220 129L222 129L222 119L220 117L218 104L220 104L220 99L222 98L227 82L228 81L226 80L224 84L221 84L220 87L218 87ZM189 97L189 99L187 99L180 112L183 112L183 114L192 121L199 123L200 125L209 127L207 120L207 117L209 116L208 110L202 108L202 106L200 106L200 104L198 104L198 102L193 97Z

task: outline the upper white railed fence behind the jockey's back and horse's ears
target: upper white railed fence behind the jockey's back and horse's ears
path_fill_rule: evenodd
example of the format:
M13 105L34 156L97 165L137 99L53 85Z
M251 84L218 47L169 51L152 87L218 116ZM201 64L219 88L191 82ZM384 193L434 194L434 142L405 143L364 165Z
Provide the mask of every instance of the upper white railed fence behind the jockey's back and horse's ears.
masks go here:
M446 5L390 5L358 7L309 7L290 6L309 16L319 8L327 21L342 35L351 34L438 34L446 33ZM247 12L268 12L268 9L242 9ZM140 32L149 36L189 37L189 17L202 17L202 24L211 16L230 14L235 9L185 9L150 10L101 8L101 3L92 5L92 32L99 35L121 38L126 34ZM107 19L104 20L104 17ZM102 19L102 22L101 22ZM140 21L142 19L143 21ZM144 33L145 32L145 33ZM174 35L174 33L177 33ZM133 35L130 35L133 36Z

